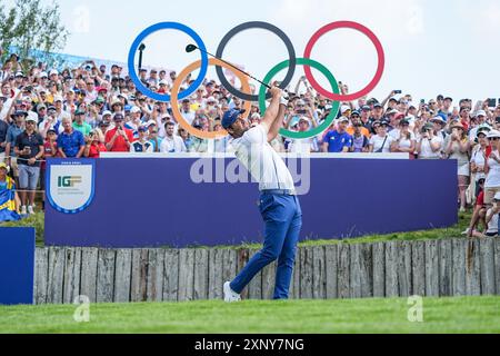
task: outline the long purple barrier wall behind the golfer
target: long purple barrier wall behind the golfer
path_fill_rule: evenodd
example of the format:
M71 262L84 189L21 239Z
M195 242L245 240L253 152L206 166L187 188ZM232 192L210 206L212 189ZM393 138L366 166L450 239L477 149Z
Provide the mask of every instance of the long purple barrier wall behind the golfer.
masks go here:
M64 215L47 204L46 244L130 248L260 243L257 185L194 184L194 161L97 160L96 196L84 211ZM226 165L231 161L226 159ZM457 162L312 158L310 190L300 201L302 240L449 227L458 221Z

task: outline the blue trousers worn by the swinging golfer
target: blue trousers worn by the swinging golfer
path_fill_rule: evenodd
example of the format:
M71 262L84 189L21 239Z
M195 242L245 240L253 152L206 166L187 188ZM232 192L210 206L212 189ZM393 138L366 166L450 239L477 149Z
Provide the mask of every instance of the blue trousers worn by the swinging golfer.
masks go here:
M302 227L299 198L262 194L259 209L266 224L263 248L249 260L230 287L240 294L262 268L278 259L273 298L288 299Z

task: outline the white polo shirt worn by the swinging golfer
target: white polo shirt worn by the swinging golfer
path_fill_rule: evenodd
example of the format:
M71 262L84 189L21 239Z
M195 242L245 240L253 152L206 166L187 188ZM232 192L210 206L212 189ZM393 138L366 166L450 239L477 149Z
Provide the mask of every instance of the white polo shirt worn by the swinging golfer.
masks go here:
M294 190L293 178L284 161L269 145L267 129L262 123L231 140L231 146L240 162L259 182L260 190Z

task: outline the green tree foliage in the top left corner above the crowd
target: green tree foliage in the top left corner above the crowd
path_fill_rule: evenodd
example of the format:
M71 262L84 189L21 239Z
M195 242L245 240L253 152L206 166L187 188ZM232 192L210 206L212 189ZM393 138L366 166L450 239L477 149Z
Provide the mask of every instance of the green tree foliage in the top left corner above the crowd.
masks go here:
M0 3L0 48L2 61L16 48L23 67L31 62L31 50L46 56L66 46L69 32L61 22L59 4L42 6L41 0L16 0L7 9Z

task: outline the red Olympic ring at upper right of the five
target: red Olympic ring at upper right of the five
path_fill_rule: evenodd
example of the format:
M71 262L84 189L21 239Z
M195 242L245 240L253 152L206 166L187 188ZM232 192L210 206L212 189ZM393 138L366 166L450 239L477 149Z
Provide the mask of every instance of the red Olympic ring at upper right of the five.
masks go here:
M313 89L316 89L323 97L334 100L334 101L353 101L353 100L357 100L357 99L370 93L377 87L380 79L382 78L383 68L386 66L386 55L383 52L382 43L380 43L377 36L370 29L362 26L361 23L353 22L353 21L337 21L337 22L328 23L328 24L323 26L322 28L320 28L309 40L308 46L306 47L306 51L303 53L303 58L310 59L312 48L314 47L316 42L324 33L330 32L336 29L340 29L340 28L350 28L353 30L358 30L358 31L362 32L364 36L367 36L370 39L370 41L374 44L379 60L378 60L377 72L376 72L373 79L370 81L370 83L364 89L362 89L358 92L342 96L342 95L337 95L337 93L333 93L333 92L330 92L330 91L323 89L318 83L318 81L316 81L314 77L312 76L311 67L303 66L303 70L306 72L306 78L308 78L309 82L311 83L311 87Z

